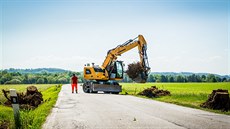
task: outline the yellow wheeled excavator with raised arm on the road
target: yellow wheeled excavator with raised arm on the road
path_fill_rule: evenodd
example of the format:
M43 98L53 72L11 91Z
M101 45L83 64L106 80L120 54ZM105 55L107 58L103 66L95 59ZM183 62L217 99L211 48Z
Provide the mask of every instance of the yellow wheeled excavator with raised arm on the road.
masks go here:
M117 81L122 80L124 76L123 61L117 60L118 56L137 47L140 56L140 65L143 72L139 73L133 80L137 83L145 83L150 67L147 57L147 43L142 35L134 39L130 39L117 47L110 49L101 66L92 63L86 64L83 71L85 82L83 83L83 91L85 93L104 93L119 94L122 91L121 85Z

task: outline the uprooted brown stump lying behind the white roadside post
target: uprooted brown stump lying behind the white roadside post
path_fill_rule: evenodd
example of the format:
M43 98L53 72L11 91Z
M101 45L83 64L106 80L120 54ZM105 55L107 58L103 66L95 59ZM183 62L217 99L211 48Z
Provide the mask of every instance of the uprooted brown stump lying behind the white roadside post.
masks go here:
M9 91L2 90L7 101L5 105L11 106L11 99L9 97ZM18 102L21 109L34 109L42 103L43 98L41 92L38 91L37 87L29 86L24 94L23 92L17 93Z

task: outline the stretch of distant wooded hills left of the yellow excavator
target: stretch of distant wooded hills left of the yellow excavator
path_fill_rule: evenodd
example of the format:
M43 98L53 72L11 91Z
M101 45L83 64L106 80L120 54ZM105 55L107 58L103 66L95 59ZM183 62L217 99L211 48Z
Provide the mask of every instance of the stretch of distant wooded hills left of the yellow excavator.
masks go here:
M75 73L79 82L83 81L80 72L56 68L6 69L0 73L0 84L67 84Z

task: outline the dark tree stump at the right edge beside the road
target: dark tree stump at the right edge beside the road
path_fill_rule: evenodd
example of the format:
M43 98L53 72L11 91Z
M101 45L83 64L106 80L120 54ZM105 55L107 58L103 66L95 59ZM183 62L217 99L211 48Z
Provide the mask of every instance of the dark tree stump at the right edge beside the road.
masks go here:
M213 90L208 100L200 105L204 108L228 111L230 110L230 98L228 90Z

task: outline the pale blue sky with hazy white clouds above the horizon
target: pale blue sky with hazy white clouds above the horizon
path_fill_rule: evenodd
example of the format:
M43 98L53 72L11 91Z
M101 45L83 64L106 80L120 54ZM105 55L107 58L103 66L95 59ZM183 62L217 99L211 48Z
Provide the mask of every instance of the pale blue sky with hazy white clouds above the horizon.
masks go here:
M1 0L0 68L102 65L143 35L151 72L230 75L229 0ZM118 57L139 61L137 48Z

